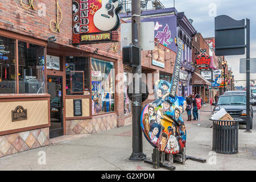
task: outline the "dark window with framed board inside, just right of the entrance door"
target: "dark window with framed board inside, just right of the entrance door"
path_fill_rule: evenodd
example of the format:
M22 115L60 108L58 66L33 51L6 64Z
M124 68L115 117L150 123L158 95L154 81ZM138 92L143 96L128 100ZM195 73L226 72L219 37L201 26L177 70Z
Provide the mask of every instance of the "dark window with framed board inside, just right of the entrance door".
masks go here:
M66 57L67 95L89 95L89 57Z

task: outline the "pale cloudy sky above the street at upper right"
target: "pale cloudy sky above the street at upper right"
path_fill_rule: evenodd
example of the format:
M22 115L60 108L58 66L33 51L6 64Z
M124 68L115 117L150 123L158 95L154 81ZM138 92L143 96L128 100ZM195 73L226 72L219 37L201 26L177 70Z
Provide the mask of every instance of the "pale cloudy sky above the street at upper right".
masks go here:
M174 7L173 0L160 0L167 7ZM250 19L250 56L256 57L256 22L255 0L176 0L177 11L184 11L187 18L193 19L193 26L204 38L214 37L214 16L228 15L236 20ZM240 58L246 55L225 56L229 67L232 67L235 80L246 80L245 74L240 74ZM256 74L251 74L250 79L256 80ZM235 82L236 86L245 86L245 81ZM255 81L256 84L256 81Z

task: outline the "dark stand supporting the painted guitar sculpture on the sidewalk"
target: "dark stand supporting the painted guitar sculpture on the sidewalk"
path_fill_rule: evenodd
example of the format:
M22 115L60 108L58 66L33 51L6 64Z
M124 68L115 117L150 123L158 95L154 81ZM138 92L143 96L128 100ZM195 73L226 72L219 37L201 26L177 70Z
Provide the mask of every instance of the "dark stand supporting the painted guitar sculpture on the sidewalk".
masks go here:
M153 149L152 159L144 159L145 163L152 164L154 169L158 169L160 167L169 169L170 171L174 171L176 169L172 164L180 163L185 164L185 161L191 159L196 162L206 163L206 159L195 158L192 156L186 156L185 147L183 150L179 152L179 154L165 154L164 152L160 152L158 148Z

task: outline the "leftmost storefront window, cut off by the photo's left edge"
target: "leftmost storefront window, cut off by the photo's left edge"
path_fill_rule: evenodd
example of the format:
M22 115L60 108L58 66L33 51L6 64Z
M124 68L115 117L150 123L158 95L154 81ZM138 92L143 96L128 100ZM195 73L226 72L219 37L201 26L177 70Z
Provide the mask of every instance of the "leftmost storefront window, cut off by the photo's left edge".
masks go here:
M15 40L0 36L0 93L16 93Z

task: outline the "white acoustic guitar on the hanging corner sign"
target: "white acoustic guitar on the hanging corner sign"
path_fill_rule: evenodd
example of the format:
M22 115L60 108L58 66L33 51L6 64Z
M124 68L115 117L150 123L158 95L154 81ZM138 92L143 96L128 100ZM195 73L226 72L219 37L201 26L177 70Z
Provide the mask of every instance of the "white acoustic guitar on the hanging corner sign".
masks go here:
M120 24L118 13L121 10L122 5L118 0L102 0L101 9L93 16L94 25L101 31L117 30Z

